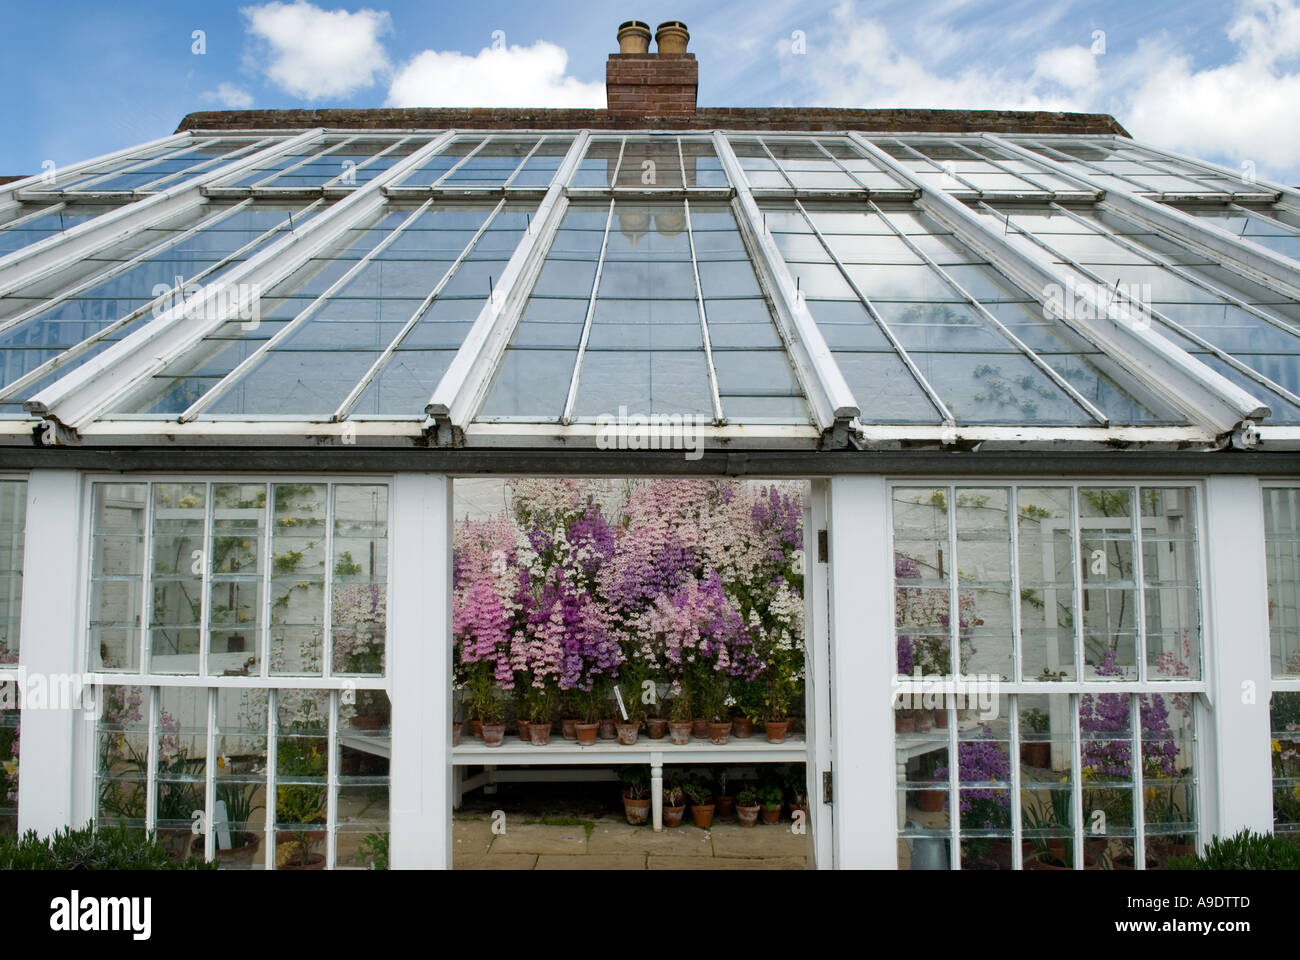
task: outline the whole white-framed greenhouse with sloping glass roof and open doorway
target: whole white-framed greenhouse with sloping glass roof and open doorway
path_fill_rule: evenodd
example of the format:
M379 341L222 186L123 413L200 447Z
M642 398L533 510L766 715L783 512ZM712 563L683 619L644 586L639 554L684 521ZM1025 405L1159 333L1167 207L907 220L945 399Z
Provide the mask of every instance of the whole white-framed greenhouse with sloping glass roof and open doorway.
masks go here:
M1106 116L697 108L645 35L604 111L195 113L0 185L0 831L1300 831L1300 191Z

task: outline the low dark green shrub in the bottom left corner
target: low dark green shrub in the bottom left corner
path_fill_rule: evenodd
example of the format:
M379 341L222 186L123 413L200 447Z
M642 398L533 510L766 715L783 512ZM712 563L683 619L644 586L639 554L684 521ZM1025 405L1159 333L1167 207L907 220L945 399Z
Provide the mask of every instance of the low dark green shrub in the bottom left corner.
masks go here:
M44 839L29 830L0 838L0 870L216 870L217 864L190 857L183 864L152 836L125 826L95 830L64 827Z

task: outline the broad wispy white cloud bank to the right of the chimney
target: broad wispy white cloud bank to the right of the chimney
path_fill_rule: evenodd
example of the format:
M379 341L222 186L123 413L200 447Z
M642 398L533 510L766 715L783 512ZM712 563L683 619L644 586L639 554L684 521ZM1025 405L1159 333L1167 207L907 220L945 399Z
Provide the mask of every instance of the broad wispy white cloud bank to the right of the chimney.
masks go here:
M1291 122L1300 103L1300 0L1242 0L1225 33L1227 61L1197 68L1165 34L1097 56L1082 44L1035 51L1026 36L1015 56L991 48L984 27L931 23L916 31L923 61L844 0L810 34L810 56L776 49L781 77L802 90L794 95L802 103L1105 112L1139 140L1232 167L1253 160L1261 174L1292 180L1300 176L1300 124ZM956 47L991 52L940 70Z

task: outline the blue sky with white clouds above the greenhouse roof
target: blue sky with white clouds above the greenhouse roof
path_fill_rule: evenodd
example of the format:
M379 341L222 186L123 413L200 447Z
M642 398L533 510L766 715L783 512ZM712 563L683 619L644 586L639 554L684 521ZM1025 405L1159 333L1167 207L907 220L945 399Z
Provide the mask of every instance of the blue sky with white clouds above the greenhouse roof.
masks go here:
M3 16L0 174L164 137L199 109L603 105L615 30L637 17L688 23L701 105L1104 111L1139 139L1300 181L1300 0L125 0Z

